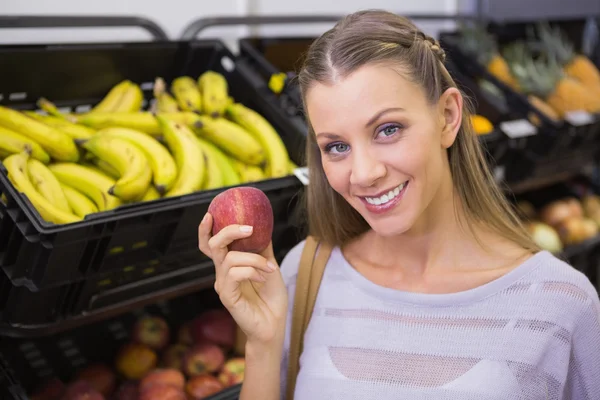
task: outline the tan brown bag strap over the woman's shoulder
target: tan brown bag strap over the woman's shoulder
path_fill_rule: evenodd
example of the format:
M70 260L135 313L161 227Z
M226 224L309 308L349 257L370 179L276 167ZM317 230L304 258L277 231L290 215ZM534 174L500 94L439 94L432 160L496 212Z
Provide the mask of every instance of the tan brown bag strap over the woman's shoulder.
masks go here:
M293 400L296 377L300 369L300 354L304 343L304 332L310 322L325 265L331 255L332 247L317 241L312 236L306 238L298 275L290 332L290 349L287 371L287 400Z

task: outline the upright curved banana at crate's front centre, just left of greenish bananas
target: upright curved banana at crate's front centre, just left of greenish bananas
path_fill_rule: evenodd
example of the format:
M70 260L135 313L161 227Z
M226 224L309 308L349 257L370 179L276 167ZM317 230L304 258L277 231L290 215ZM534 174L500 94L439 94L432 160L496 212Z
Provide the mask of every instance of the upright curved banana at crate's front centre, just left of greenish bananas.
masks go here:
M181 196L198 191L204 183L206 160L194 133L184 124L156 117L162 126L167 146L175 155L177 180L164 197Z

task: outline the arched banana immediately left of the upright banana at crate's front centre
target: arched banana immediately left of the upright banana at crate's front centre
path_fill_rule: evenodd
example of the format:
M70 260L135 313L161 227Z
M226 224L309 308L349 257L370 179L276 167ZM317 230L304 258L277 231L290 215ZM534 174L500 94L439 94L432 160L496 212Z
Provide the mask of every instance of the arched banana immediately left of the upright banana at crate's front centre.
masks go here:
M177 178L177 164L169 150L158 140L145 133L127 128L106 128L98 131L99 135L109 135L129 141L139 147L150 164L153 183L159 193L166 193Z

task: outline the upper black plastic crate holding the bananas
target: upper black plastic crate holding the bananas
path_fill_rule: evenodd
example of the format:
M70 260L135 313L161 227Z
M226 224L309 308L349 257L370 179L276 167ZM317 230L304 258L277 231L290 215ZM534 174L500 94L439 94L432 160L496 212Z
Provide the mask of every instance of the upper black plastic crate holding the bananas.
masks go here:
M292 161L301 163L304 137L221 41L9 45L0 47L0 56L11 60L0 64L5 94L0 104L17 109L34 109L40 97L59 107L85 109L123 79L140 84L149 100L158 76L170 82L216 70L227 77L234 99L269 120ZM3 167L0 172L0 192L8 199L0 204L0 267L14 285L41 290L123 271L132 264L171 262L180 255L192 255L188 265L207 260L197 250L197 226L223 189L122 206L82 222L53 225L14 190ZM291 175L251 185L267 193L276 225L288 224L303 188L300 181Z

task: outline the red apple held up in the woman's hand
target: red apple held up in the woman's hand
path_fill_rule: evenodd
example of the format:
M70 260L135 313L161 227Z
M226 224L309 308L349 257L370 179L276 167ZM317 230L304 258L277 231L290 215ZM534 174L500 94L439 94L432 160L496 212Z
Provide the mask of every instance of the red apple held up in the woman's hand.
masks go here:
M227 189L214 197L208 206L213 217L212 234L228 225L250 225L252 235L233 241L229 250L261 253L273 236L273 208L267 195L251 186Z

